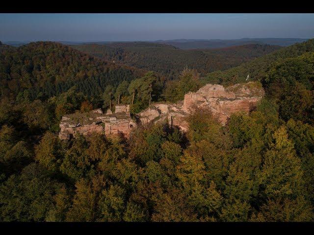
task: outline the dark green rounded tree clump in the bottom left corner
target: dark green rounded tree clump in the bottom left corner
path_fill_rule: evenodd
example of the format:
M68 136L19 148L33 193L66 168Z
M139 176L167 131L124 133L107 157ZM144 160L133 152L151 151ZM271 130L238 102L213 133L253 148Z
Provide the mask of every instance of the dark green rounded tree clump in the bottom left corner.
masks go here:
M1 184L1 221L45 221L57 211L56 199L65 199L59 197L62 193L62 183L52 180L39 165L30 164L20 176L11 175Z

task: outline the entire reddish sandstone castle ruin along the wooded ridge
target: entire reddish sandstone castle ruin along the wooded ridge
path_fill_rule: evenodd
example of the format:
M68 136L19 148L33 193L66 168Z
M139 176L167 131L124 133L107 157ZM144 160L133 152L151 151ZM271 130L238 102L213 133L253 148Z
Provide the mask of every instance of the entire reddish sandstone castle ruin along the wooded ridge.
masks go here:
M131 118L129 105L116 105L115 112L101 109L85 114L71 114L62 117L60 139L70 139L75 133L89 136L93 132L118 135L129 138L137 125L157 123L167 120L170 126L178 126L187 131L186 117L196 109L208 109L223 125L231 114L237 111L248 113L264 95L259 82L235 84L230 87L207 84L197 92L184 95L184 100L176 104L154 103L146 110Z

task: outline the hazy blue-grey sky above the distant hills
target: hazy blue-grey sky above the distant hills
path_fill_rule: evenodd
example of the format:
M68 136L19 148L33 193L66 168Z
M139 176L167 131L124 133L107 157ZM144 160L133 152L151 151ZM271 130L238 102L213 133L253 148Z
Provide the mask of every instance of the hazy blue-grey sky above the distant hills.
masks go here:
M0 14L0 41L314 38L314 14Z

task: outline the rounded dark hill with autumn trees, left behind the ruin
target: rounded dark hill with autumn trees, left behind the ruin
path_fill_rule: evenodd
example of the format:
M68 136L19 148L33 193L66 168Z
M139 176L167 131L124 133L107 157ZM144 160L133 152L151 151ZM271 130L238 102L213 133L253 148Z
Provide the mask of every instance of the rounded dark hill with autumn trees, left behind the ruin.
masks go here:
M108 84L118 85L144 73L59 43L36 42L0 51L0 94L10 99L26 90L31 99L50 97L73 86L84 94L98 95Z

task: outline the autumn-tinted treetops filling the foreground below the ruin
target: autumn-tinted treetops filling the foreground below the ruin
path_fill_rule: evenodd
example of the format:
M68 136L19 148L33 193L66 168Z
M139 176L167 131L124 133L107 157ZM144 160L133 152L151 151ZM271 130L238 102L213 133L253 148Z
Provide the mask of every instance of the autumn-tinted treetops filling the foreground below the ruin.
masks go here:
M162 125L136 129L129 142L47 132L35 147L39 164L2 176L1 220L313 220L312 126L281 120L268 99L227 127L204 114L188 118L187 144ZM2 127L1 156L29 159L14 132Z

